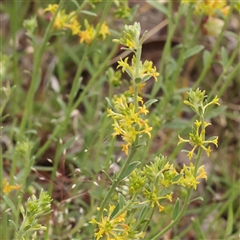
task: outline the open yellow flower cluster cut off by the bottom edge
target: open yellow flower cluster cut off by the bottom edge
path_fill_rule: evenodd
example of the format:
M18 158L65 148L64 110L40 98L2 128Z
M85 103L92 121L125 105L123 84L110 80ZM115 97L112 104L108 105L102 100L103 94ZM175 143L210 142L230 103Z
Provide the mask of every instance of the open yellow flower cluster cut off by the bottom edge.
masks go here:
M145 233L137 233L131 229L131 226L125 224L126 212L112 217L115 206L110 205L109 210L104 209L108 214L102 217L101 222L98 222L95 218L92 218L90 223L97 224L98 230L95 233L96 240L101 238L107 240L130 240L144 238Z

